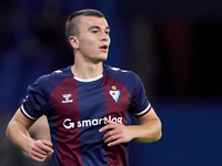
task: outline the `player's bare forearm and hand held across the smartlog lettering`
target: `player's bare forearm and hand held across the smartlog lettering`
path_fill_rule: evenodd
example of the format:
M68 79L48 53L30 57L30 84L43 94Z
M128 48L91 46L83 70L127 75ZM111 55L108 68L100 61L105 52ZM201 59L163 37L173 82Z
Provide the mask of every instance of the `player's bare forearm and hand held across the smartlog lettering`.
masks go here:
M139 143L152 143L161 138L161 122L153 108L143 116L134 117L138 125L125 126L123 124L105 121L108 124L100 128L107 132L103 136L108 146L135 141Z

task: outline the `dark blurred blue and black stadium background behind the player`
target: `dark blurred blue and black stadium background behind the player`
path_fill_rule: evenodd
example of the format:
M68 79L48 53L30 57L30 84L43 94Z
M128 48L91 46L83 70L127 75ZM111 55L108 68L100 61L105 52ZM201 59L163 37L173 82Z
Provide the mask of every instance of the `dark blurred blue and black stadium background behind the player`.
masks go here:
M105 63L140 75L163 123L161 141L130 143L131 166L222 165L221 0L0 0L0 165L48 166L4 131L30 83L72 64L64 23L84 8L107 15Z

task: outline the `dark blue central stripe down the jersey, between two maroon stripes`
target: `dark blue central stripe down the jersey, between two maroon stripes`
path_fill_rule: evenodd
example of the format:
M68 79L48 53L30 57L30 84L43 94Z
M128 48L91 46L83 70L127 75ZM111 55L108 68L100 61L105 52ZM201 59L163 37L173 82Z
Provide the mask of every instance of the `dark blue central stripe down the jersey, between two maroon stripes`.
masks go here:
M104 133L99 132L105 116L104 92L101 79L92 82L78 82L78 101L82 164L83 166L108 165L102 138Z

